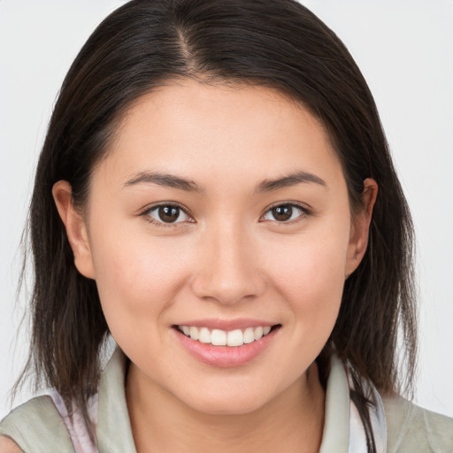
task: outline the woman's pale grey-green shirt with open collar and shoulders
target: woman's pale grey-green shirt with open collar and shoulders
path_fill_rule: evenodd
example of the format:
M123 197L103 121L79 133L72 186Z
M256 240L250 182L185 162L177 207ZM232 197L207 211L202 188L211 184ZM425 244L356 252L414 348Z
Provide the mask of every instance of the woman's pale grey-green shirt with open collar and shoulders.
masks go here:
M401 397L383 397L388 453L452 453L453 419L426 411ZM326 388L326 416L320 453L353 448L348 375L334 358ZM50 396L38 396L0 423L24 453L73 453L73 441ZM384 438L385 438L384 437ZM125 357L117 349L101 376L96 441L99 453L136 453L125 396ZM385 449L385 446L384 446Z

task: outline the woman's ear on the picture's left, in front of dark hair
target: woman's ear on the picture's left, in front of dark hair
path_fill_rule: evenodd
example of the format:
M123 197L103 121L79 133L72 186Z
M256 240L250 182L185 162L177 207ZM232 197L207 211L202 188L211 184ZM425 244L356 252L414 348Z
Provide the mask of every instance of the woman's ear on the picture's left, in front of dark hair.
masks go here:
M65 224L67 238L73 249L75 267L88 279L95 279L88 229L81 212L73 206L72 188L69 182L65 180L56 182L52 188L52 196L57 205L58 214Z

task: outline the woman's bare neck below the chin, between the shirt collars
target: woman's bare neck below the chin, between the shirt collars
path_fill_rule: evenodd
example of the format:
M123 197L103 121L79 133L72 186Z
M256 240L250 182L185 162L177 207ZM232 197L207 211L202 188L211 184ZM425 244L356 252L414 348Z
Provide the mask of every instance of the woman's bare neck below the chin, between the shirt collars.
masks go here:
M273 401L245 414L196 411L142 380L134 365L127 375L126 395L138 453L319 451L325 392L316 365Z

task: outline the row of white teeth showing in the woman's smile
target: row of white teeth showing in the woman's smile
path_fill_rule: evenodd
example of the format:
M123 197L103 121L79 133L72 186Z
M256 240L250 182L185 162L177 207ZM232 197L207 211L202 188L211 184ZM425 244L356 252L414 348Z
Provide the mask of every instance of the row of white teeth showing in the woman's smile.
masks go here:
M242 344L256 342L262 336L271 332L271 326L247 327L245 330L235 329L229 332L220 329L213 329L212 332L207 327L178 326L180 331L192 340L202 343L211 343L214 346L237 347Z

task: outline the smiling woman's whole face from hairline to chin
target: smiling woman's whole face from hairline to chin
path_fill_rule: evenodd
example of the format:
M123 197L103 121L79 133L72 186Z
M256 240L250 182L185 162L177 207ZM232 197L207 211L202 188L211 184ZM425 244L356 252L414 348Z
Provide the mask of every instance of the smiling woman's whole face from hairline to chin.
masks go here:
M84 222L76 265L135 375L209 413L304 384L366 242L317 119L269 88L189 80L127 112Z

